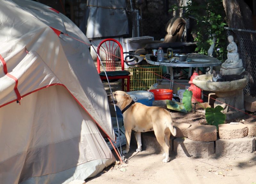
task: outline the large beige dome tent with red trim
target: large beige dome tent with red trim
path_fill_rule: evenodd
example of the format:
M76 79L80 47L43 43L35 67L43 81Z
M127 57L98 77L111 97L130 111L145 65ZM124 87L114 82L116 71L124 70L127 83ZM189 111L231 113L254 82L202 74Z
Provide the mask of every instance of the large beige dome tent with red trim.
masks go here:
M114 134L89 40L46 5L0 9L0 183L96 175L115 161L103 138Z

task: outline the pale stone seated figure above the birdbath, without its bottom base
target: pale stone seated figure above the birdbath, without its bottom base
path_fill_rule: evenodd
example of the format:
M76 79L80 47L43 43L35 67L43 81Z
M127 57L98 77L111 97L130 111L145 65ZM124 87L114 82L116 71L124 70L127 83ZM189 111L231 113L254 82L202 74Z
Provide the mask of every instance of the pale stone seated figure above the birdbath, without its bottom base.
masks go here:
M221 67L228 69L228 68L239 68L243 67L242 60L239 59L239 53L237 52L237 46L236 43L234 42L234 38L232 35L228 36L228 59L222 63Z

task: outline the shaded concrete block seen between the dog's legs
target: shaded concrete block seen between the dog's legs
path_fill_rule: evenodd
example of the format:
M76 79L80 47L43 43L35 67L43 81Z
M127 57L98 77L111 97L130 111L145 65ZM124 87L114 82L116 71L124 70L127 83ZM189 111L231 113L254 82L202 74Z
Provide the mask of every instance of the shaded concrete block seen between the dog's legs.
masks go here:
M172 135L171 135L172 136ZM173 150L173 139L174 137L170 138L170 153ZM158 153L164 153L163 147L157 142L156 136L154 131L144 132L141 134L141 141L142 141L142 149Z

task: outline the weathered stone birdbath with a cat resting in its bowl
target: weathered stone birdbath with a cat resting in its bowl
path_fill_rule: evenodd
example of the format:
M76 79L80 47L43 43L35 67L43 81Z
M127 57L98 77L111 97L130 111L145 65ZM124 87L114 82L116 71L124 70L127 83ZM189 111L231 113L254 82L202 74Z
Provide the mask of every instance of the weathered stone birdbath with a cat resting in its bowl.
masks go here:
M244 116L244 87L249 78L247 75L243 79L236 81L214 82L211 74L199 75L193 83L204 91L215 92L217 98L214 108L218 105L224 109L226 120Z

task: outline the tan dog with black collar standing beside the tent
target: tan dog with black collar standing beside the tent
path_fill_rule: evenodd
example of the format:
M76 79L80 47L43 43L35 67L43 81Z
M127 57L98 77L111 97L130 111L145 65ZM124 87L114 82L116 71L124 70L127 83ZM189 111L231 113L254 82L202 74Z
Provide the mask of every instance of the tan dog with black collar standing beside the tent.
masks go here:
M161 107L148 107L142 103L134 103L132 98L124 91L113 93L116 106L122 110L124 116L124 128L126 137L126 149L123 153L128 153L132 130L135 131L138 149L141 151L140 132L153 131L159 144L164 148L163 162L167 163L170 149L170 136L176 135L176 129L172 126L171 114Z

